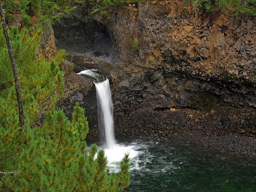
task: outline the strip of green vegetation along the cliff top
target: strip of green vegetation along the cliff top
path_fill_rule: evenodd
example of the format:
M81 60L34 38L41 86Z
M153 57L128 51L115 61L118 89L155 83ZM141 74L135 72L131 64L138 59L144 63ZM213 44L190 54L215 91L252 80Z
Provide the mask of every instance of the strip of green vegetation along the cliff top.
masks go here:
M14 14L21 13L24 25L32 25L59 21L64 14L72 12L79 5L90 7L92 13L100 12L106 15L120 6L138 5L145 1L159 3L162 0L5 0L3 9L6 12L6 20L12 19ZM205 12L212 12L213 7L217 6L224 13L256 16L256 0L183 0L182 2L186 4L190 1Z

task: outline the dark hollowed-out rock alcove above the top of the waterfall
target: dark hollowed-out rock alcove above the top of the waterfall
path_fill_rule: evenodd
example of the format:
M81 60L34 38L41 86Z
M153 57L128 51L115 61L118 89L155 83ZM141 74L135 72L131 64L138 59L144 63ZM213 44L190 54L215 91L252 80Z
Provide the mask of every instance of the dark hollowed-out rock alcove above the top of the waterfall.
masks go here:
M119 59L119 50L108 28L98 21L84 17L63 18L53 26L56 47L68 53L84 55L108 63Z

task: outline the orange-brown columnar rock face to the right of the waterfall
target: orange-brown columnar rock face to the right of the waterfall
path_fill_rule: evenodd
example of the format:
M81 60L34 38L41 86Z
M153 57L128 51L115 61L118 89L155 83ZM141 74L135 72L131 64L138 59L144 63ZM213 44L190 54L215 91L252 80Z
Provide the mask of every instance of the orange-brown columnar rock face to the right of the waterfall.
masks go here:
M202 13L175 1L127 9L115 20L124 57L134 56L113 85L119 112L191 106L202 92L256 107L255 19ZM139 49L129 52L129 41Z

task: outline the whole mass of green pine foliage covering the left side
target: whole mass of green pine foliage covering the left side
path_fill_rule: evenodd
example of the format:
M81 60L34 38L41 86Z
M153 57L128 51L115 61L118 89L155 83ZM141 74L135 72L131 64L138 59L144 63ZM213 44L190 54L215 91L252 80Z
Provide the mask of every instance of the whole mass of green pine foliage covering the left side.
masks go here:
M105 191L129 185L129 158L118 173L110 172L104 151L92 145L84 109L78 103L72 120L55 102L63 88L58 65L63 51L51 61L36 56L41 30L9 30L23 96L23 133L19 118L8 49L0 28L0 191ZM122 183L122 184L120 184Z

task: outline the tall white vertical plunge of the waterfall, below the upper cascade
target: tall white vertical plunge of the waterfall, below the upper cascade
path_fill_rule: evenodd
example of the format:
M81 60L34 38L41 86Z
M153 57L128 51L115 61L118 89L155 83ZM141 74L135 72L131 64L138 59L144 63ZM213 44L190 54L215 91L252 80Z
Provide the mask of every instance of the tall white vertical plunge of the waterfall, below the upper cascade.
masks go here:
M101 143L105 142L106 148L113 149L115 145L113 103L108 79L95 83L98 101L98 118Z

